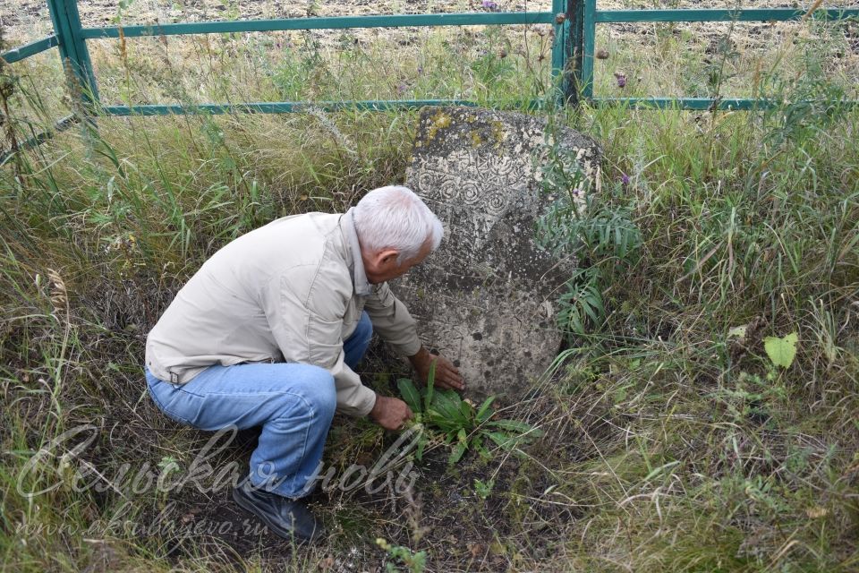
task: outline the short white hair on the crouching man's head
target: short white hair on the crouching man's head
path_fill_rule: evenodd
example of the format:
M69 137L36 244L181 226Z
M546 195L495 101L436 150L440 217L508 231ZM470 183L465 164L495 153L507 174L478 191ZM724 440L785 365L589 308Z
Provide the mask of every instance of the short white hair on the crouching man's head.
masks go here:
M435 251L445 233L421 198L400 185L379 187L364 195L353 218L362 248L374 252L394 249L399 252L399 263L417 258L427 242Z

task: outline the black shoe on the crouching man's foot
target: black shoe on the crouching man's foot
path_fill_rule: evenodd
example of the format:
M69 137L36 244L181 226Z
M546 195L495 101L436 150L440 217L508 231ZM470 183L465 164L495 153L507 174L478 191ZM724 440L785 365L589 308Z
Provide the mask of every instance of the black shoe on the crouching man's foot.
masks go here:
M233 489L233 500L259 517L272 533L286 539L312 543L324 533L322 523L310 513L304 501L254 488L250 480Z

